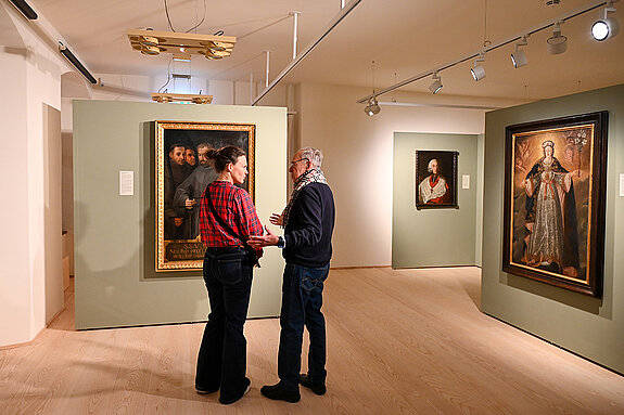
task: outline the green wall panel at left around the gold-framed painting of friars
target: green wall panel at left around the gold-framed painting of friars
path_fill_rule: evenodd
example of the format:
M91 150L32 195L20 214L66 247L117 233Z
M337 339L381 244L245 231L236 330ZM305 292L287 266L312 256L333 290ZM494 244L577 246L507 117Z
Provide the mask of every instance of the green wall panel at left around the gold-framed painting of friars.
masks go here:
M154 120L256 125L255 202L263 223L285 205L286 111L276 107L74 102L76 327L206 320L201 271L154 272ZM119 170L135 196L119 196ZM250 316L278 315L283 260L266 249Z

